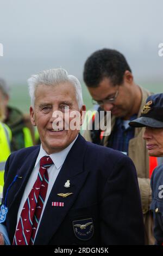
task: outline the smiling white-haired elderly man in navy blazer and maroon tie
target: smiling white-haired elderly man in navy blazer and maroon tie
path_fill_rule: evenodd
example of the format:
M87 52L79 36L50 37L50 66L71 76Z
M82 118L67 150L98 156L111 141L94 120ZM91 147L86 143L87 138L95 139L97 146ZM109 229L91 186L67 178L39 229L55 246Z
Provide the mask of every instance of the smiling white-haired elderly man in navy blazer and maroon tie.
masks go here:
M143 245L134 164L79 134L85 105L78 79L49 69L28 84L41 145L12 153L5 166L0 223L10 243Z

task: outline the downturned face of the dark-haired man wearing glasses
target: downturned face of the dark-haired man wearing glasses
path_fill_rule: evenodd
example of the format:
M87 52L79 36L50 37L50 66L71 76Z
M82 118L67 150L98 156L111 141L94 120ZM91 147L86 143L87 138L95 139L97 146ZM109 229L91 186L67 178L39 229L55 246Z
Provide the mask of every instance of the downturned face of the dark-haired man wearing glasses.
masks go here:
M98 87L87 88L94 100L104 100L104 103L101 104L101 108L105 111L111 111L111 114L116 117L126 117L130 114L134 104L130 83L124 81L120 86L112 86L110 79L104 78L99 83ZM114 97L117 91L118 94L115 101L112 103L107 102L107 99Z

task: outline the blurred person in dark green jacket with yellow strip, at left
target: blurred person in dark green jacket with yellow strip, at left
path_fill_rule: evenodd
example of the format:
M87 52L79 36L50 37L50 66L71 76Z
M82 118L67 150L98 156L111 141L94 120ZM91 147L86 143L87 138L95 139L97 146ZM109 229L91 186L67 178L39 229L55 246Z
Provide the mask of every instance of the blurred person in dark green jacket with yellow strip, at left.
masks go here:
M3 122L11 129L12 141L11 151L20 150L23 147L30 147L35 144L34 129L30 122L29 115L24 115L16 108L8 106L9 87L0 78L0 101L4 115Z

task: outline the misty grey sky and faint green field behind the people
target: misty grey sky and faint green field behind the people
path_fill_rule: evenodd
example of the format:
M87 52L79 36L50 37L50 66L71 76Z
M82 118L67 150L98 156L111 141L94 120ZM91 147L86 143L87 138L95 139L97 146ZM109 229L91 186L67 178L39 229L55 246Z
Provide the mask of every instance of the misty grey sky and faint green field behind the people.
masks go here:
M135 82L163 92L162 0L0 0L0 77L11 104L28 111L27 79L43 69L65 68L83 86L84 63L104 47L121 51Z

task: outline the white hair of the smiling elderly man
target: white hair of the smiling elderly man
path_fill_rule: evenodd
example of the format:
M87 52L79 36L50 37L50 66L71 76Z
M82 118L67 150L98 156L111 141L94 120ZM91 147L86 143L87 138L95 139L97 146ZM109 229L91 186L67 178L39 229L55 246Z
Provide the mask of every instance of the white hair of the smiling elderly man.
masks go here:
M67 82L67 84L71 84L74 86L76 91L76 99L78 102L79 109L83 106L83 97L82 97L82 86L80 85L79 80L76 76L68 75L67 71L62 68L53 68L43 70L37 75L32 75L28 79L28 86L29 86L29 95L31 99L31 105L34 108L35 103L35 90L36 87L39 85L59 85L61 83Z

